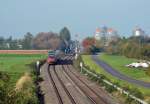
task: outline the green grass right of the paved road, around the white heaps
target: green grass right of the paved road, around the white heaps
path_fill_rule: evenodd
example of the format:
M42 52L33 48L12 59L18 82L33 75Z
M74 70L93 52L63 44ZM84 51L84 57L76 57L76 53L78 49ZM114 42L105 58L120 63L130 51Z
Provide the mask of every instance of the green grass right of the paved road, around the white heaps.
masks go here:
M113 68L118 70L120 73L132 77L137 80L150 82L150 76L146 75L142 68L129 68L125 65L137 62L136 59L127 58L118 55L101 54L100 59L111 65Z

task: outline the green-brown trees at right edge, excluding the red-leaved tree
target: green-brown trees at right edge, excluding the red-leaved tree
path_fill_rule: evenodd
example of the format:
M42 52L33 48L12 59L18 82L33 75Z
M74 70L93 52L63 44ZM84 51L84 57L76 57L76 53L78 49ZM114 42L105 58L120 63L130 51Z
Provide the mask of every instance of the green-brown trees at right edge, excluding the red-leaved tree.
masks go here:
M120 38L117 41L111 41L105 47L109 54L124 55L129 58L150 59L150 38L144 36Z

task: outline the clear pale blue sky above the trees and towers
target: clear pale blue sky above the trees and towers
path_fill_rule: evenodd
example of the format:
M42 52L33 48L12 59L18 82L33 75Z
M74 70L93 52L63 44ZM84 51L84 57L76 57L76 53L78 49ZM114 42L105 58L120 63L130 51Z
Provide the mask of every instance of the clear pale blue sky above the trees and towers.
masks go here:
M135 26L150 34L150 0L0 0L0 36L21 38L64 26L80 39L103 26L122 36Z

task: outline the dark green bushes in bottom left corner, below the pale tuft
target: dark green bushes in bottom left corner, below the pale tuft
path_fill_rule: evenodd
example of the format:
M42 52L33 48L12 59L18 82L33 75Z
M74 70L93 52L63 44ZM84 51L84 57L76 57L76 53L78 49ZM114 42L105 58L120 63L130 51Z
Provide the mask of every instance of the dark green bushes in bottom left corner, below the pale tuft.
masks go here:
M9 75L0 72L0 104L38 104L35 92L33 81L25 83L21 90L16 91L11 85Z

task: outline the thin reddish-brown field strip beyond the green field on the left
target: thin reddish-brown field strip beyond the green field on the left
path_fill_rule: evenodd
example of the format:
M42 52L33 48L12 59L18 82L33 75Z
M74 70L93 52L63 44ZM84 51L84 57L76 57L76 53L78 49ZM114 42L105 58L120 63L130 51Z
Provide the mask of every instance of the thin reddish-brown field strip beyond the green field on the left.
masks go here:
M0 50L0 54L47 54L48 50Z

